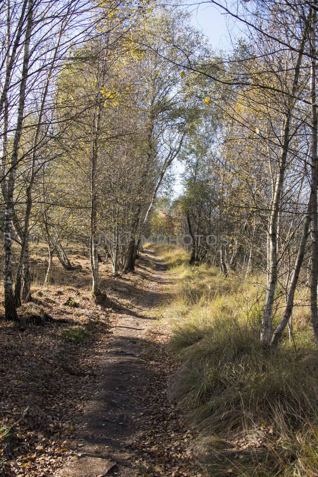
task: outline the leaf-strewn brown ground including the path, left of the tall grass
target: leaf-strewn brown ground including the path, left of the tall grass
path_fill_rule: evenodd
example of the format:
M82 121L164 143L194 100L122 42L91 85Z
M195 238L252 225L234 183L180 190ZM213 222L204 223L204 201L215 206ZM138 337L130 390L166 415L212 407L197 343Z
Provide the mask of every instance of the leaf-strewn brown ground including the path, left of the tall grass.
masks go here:
M104 272L111 309L74 275L35 287L25 332L0 322L0 475L201 475L197 431L167 396L177 363L162 314L177 276L153 250L133 274ZM45 326L32 321L39 306Z

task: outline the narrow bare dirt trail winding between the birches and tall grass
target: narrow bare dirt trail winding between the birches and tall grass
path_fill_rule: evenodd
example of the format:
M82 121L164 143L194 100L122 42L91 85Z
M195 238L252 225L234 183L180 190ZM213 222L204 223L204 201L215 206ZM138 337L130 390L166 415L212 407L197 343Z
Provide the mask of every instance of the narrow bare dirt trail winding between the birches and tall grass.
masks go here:
M154 307L163 302L167 296L165 290L175 277L167 271L165 264L154 255L154 252L148 251L146 259L154 264L154 268L152 270L144 268L149 278L145 280L144 293L137 299L137 304L131 311L119 311L119 320L112 330L108 350L102 350L96 356L96 359L102 360L101 384L96 390L94 402L89 405L83 416L83 425L86 427L78 440L80 446L78 456L72 457L67 465L60 469L59 476L132 477L157 475L156 471L160 475L161 469L156 467L156 457L152 459L149 457L151 452L141 455L141 460L145 456L150 458L149 474L140 471L134 446L136 447L138 435L147 432L149 426L155 428L160 421L160 417L155 417L158 408L154 409L152 415L153 406L158 407L166 401L163 397L165 383L161 382L159 367L149 364L147 333L155 320L149 314ZM158 350L158 353L159 351L162 352L162 349ZM150 360L150 363L153 362ZM168 368L165 372L169 371ZM162 419L166 419L164 423L173 417L173 406L172 414L170 411L170 408L162 411ZM179 431L181 434L185 432L184 429ZM135 444L131 445L132 442ZM142 446L143 444L139 446L140 452L147 451L142 449ZM157 450L156 455L159 455ZM162 459L164 457L159 457L158 462L160 463ZM151 471L154 467L156 470Z

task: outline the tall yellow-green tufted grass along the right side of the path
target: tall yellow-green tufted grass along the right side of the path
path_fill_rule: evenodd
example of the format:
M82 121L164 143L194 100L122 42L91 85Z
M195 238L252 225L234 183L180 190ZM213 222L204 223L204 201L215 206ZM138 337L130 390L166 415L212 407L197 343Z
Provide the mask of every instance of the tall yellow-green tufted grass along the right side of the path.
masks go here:
M180 280L167 309L169 346L180 359L170 397L202 431L211 476L318 476L318 350L299 290L292 336L275 358L259 343L261 277L228 279L161 254ZM284 303L277 301L276 320Z

